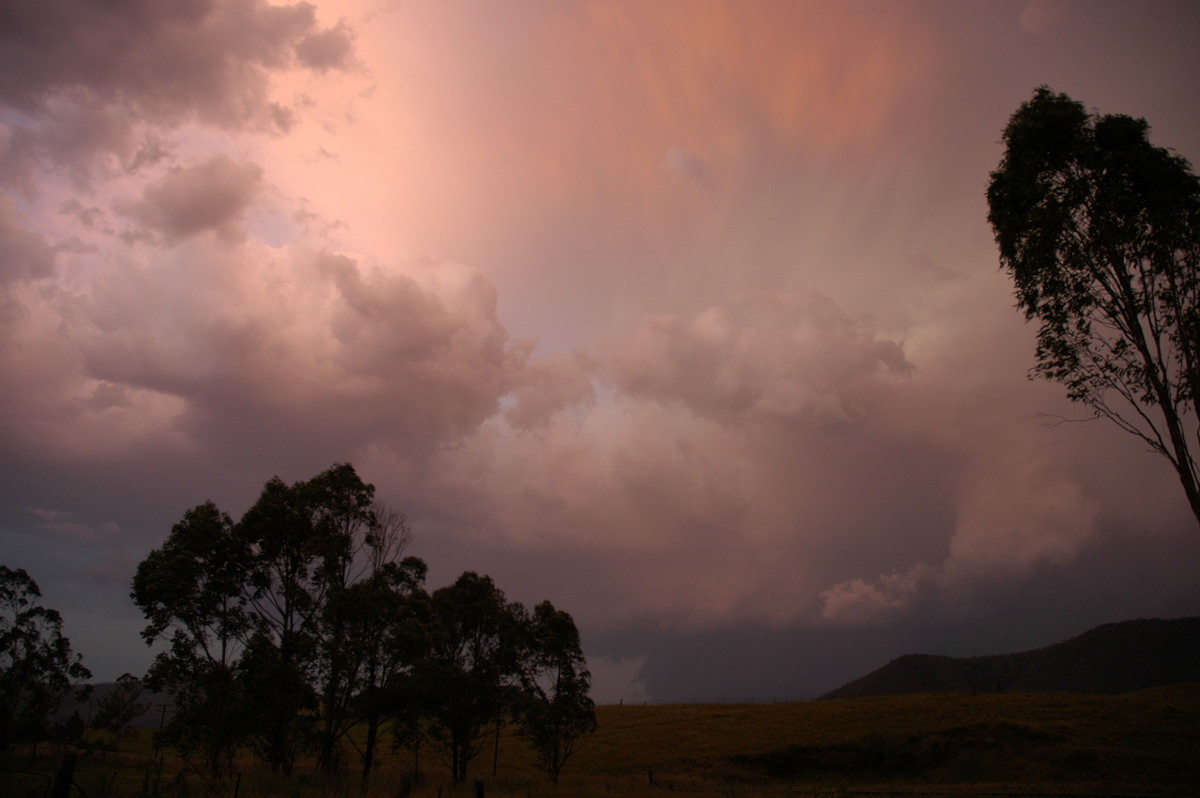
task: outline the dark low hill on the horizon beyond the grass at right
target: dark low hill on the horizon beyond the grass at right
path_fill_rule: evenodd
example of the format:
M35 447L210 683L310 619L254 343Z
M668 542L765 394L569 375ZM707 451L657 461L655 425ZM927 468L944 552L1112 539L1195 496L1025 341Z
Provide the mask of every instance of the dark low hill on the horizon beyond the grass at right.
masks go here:
M908 654L823 698L912 692L1120 694L1200 682L1200 618L1126 620L1020 654Z

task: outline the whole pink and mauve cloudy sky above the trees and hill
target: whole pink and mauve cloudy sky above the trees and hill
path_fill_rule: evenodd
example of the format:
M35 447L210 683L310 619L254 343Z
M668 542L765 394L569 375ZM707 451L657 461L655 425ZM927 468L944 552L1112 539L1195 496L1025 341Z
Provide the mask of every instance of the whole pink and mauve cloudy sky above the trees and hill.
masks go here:
M350 462L599 701L1200 614L1168 463L1031 382L1039 85L1200 157L1200 6L0 0L0 562L97 679L206 499ZM1068 421L1063 421L1068 419Z

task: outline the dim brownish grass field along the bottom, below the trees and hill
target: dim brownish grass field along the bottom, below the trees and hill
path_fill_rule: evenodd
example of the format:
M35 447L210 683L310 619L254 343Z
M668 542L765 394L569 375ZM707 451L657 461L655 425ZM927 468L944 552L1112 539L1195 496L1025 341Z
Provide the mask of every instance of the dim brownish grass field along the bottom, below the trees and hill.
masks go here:
M1200 685L1122 696L925 695L773 704L618 706L568 764L557 792L508 732L499 754L472 763L487 796L1091 794L1200 796ZM98 740L97 740L98 742ZM76 782L88 798L287 796L392 798L412 752L384 754L368 788L301 766L283 780L250 758L217 782L164 751L142 730L116 751L80 752ZM353 757L353 755L352 755ZM44 796L61 752L5 755L0 797ZM413 798L474 796L420 754ZM493 775L494 764L494 775ZM14 773L23 770L24 774ZM32 775L34 773L41 775Z

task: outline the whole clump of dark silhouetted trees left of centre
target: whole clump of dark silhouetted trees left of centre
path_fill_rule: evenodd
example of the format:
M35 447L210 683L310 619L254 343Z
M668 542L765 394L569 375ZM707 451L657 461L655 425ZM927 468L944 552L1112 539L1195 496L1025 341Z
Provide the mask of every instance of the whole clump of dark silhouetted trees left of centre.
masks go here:
M336 772L354 748L366 779L390 726L464 781L510 719L557 781L595 728L575 622L473 571L427 592L409 534L344 463L271 479L238 522L212 502L185 512L133 577L142 636L166 643L146 673L175 704L162 742L214 774L247 745L284 774L304 754Z

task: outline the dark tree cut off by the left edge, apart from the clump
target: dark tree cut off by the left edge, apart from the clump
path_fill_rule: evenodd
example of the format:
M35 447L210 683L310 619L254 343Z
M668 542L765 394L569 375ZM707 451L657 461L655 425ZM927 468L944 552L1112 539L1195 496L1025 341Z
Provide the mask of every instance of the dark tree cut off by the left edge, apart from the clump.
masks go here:
M91 678L62 635L62 617L41 596L24 569L0 565L0 748L44 737L72 685Z

